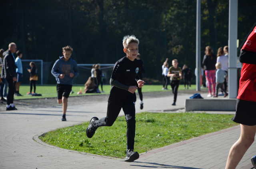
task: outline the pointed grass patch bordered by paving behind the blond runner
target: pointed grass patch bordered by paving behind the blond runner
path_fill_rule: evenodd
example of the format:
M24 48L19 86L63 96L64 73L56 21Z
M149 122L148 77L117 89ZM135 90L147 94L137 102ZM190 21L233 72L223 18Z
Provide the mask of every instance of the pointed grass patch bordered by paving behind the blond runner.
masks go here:
M136 114L134 149L139 153L237 125L233 115L205 113ZM93 138L86 137L89 122L46 133L40 139L65 149L111 157L124 157L126 121L118 117L111 127L100 127Z

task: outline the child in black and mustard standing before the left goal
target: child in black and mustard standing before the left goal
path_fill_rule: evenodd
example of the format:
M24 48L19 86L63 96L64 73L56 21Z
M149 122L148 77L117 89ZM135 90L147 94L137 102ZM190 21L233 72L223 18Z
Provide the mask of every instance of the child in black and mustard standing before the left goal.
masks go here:
M36 81L38 81L37 68L34 62L30 62L30 69L28 72L30 73L29 81L30 81L30 92L27 94L33 95L36 94ZM32 87L34 86L34 93L32 93Z

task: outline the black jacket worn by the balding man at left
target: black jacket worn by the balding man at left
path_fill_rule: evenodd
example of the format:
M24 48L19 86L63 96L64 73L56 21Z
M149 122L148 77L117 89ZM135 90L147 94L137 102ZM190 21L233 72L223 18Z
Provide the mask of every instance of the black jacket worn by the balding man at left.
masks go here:
M11 51L8 51L4 56L1 78L11 79L16 77L16 68L14 57Z

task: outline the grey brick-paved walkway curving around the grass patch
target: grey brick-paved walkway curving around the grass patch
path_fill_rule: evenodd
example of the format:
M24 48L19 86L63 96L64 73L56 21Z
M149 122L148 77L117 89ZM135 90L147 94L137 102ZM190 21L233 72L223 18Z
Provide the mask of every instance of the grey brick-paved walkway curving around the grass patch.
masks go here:
M184 108L190 95L179 95L177 106L170 105L173 96L145 98L143 111ZM148 151L133 163L53 147L38 139L45 132L89 121L92 116L102 118L106 107L106 101L88 105L86 100L84 105L69 106L67 122L60 121L60 107L0 112L0 169L224 169L230 146L240 134L239 126L228 128ZM136 111L141 112L139 104ZM237 168L252 168L250 157L255 154L254 143Z

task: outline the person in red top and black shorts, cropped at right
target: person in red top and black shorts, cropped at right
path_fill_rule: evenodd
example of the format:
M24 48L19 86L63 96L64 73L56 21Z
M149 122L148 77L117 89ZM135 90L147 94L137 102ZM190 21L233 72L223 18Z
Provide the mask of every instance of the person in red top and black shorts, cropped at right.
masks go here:
M225 169L235 169L244 153L254 142L256 133L256 26L244 43L240 62L242 65L236 103L236 115L232 119L240 123L240 138L229 151ZM252 164L255 166L255 156Z

